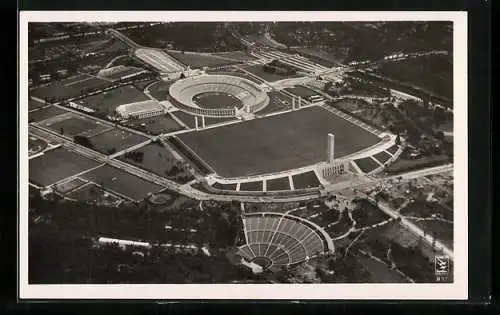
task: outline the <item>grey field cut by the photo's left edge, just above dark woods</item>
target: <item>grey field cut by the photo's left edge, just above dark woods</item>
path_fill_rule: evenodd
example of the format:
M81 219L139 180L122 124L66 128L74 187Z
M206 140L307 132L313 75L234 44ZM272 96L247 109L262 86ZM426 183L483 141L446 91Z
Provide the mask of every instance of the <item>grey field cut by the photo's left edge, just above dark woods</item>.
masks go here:
M96 161L58 148L29 160L29 180L40 186L49 186L98 165Z

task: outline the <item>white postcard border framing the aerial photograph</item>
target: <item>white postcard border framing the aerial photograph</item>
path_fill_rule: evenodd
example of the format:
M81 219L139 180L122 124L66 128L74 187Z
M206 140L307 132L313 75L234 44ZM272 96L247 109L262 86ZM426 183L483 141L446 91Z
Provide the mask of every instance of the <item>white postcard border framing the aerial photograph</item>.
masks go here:
M28 284L28 22L453 21L454 283L437 284ZM467 13L458 11L21 11L19 20L19 298L21 299L442 299L468 297Z

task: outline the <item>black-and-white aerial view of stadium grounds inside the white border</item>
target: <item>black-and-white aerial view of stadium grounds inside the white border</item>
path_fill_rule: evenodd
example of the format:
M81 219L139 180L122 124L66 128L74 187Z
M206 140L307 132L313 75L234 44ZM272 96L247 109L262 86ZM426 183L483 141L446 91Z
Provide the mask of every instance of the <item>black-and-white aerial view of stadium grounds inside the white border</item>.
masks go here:
M453 282L452 32L30 23L30 283Z

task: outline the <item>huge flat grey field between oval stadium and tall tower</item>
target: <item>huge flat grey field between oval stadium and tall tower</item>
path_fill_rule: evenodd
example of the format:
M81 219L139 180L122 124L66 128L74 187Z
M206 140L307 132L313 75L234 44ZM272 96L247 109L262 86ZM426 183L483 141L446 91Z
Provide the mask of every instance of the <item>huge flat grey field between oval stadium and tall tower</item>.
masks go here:
M321 107L190 132L179 135L179 139L220 176L237 177L285 171L324 161L328 133L335 134L337 157L357 152L380 140Z

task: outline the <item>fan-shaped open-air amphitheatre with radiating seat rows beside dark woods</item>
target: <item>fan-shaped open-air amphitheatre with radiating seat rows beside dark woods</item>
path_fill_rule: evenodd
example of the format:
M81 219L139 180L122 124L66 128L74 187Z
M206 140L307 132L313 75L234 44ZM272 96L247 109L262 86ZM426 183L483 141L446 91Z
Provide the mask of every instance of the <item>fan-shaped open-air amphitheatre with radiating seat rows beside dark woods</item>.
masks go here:
M252 213L243 219L246 244L237 254L264 270L277 271L333 251L333 243L320 227L281 213Z

